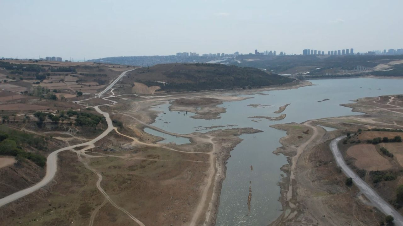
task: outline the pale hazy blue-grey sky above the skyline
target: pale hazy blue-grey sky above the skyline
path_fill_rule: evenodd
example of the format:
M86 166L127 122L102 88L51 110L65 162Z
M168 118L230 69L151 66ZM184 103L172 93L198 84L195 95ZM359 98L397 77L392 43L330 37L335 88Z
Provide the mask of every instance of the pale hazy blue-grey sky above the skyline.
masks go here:
M0 57L403 48L403 0L0 0Z

